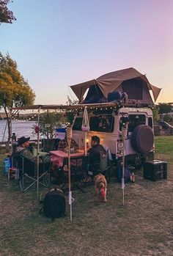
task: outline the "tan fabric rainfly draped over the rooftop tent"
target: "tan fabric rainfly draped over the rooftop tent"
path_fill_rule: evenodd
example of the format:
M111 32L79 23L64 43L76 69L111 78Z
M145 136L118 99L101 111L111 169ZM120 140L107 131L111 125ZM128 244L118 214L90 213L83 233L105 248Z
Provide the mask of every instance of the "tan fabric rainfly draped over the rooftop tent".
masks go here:
M87 89L93 85L95 85L96 89L97 87L99 87L101 92L103 93L103 96L107 99L109 92L116 91L123 83L123 81L128 81L133 78L139 78L141 79L141 81L144 81L144 84L147 84L147 89L152 90L154 100L157 100L161 89L150 84L147 77L139 73L139 71L135 70L133 67L107 73L95 80L90 80L81 84L75 84L70 87L76 94L79 102L83 100L84 93L87 91ZM145 95L147 94L145 93ZM150 98L149 94L147 95L147 97Z

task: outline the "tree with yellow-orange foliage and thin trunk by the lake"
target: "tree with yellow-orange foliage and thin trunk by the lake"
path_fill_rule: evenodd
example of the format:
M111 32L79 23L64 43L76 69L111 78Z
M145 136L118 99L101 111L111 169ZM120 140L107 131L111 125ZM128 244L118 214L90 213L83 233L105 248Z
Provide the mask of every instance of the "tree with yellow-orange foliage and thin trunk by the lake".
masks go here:
M7 116L8 145L11 137L10 109L34 103L35 94L28 81L18 71L17 63L9 54L3 56L0 52L0 108Z

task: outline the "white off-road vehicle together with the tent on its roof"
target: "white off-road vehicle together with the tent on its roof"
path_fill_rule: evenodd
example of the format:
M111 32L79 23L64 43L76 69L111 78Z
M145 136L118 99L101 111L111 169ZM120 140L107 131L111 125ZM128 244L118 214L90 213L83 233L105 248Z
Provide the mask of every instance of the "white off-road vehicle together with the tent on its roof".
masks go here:
M147 77L133 67L70 87L79 100L73 122L73 139L80 147L84 147L86 140L86 132L81 126L84 108L87 107L87 147L90 147L91 137L97 135L100 144L110 150L113 161L121 161L123 155L133 166L152 160L154 134L151 109L160 88L150 84Z

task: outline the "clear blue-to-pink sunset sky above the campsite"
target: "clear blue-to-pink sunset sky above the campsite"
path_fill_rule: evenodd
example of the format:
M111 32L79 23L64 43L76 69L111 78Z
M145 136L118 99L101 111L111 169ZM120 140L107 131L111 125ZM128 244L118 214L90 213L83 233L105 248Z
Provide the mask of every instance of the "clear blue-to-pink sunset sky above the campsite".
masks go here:
M59 104L68 87L134 67L173 101L172 0L13 0L0 51L28 79L35 103Z

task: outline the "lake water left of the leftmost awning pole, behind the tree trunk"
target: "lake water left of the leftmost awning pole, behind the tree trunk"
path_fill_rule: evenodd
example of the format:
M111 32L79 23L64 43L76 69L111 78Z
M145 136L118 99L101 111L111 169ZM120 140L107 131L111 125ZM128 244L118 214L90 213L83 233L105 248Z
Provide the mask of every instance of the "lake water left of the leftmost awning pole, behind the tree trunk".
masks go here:
M35 125L35 121L19 121L12 120L12 133L16 134L17 138L21 136L30 136L31 139L37 139L37 134L35 134L33 125ZM5 130L6 128L6 130ZM5 134L4 134L5 131ZM4 139L3 139L4 136ZM0 120L0 142L7 141L8 137L8 129L7 129L7 120Z

